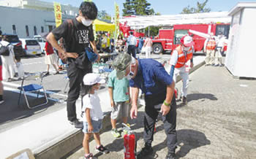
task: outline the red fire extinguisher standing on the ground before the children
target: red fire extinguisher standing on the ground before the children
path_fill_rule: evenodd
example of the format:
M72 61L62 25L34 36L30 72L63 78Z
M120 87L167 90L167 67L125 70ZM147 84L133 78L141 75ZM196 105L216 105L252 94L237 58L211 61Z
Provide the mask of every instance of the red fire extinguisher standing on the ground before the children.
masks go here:
M136 158L136 141L135 133L132 132L128 125L122 123L127 131L124 135L124 159L135 159Z

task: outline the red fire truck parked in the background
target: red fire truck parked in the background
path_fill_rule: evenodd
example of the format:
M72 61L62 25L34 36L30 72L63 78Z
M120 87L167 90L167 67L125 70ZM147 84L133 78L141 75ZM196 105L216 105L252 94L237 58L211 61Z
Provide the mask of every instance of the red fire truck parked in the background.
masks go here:
M228 38L230 24L182 24L174 25L173 28L170 29L159 29L159 35L152 39L153 52L159 54L172 51L178 46L178 44L180 44L181 37L186 34L192 35L193 41L195 42L195 52L202 51L206 38L198 36L197 34L192 34L189 32L189 30L198 31L204 34L213 32L216 36L219 32L222 32L226 38Z

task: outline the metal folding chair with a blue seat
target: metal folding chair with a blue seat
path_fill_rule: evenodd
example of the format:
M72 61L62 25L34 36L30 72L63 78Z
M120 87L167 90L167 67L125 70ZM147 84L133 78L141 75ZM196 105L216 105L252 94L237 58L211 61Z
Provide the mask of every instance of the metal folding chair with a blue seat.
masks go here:
M45 92L45 88L42 85L42 78L43 78L43 76L44 76L44 74L42 72L40 72L40 73L28 74L25 77L23 77L22 82L21 82L21 86L18 87L18 89L20 90L20 95L19 95L19 99L18 99L18 105L20 105L21 93L24 94L24 97L25 97L25 100L26 100L26 105L27 105L27 107L29 109L34 109L34 108L37 108L38 106L42 106L42 105L48 104L48 98L47 98L47 95L46 95L46 92ZM40 82L38 82L39 84L31 83L29 85L24 85L24 81L25 80L29 80L29 81L30 80L33 80L33 81L40 80ZM30 106L29 105L29 100L27 98L27 93L29 93L29 92L37 92L37 98L38 98L41 89L44 92L45 103L37 104L35 106Z

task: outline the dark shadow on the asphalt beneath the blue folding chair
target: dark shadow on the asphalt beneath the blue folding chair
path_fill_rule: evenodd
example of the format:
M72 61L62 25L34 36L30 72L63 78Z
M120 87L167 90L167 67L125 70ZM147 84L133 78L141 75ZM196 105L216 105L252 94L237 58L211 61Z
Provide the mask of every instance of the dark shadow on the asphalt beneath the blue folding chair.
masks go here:
M18 105L18 96L19 93L15 93L10 90L4 90L4 104L0 106L0 125L4 123L10 123L14 120L20 120L26 117L31 117L40 112L44 112L48 107L53 106L54 101L48 101L48 104L39 106L35 109L26 108L26 101L23 94L21 94L20 105ZM42 103L45 101L45 98L34 98L28 96L28 100L31 105Z

